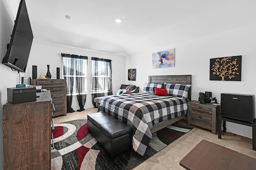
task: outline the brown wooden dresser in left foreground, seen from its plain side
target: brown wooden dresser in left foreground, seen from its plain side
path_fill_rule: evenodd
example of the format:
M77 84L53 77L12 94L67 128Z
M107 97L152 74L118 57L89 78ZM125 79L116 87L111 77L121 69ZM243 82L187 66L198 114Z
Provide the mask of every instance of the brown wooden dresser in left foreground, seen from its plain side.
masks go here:
M5 170L51 168L51 93L37 95L34 102L3 105Z

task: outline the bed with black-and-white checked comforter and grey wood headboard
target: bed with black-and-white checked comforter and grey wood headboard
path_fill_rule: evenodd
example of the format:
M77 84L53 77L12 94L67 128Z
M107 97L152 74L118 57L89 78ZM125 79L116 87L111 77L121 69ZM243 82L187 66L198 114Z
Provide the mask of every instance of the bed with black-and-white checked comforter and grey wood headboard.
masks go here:
M132 127L133 149L142 156L152 138L152 133L184 119L188 109L187 102L191 101L191 75L148 77L150 85L162 83L165 83L166 88L169 83L187 85L188 94L186 97L158 96L145 90L144 93L107 96L102 99L98 107L99 111L104 111Z

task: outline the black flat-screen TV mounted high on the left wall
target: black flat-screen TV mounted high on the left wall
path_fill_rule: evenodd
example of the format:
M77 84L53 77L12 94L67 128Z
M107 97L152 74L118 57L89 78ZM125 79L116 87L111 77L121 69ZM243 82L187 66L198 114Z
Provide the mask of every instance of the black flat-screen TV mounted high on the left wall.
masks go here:
M10 45L2 61L3 64L20 72L25 72L33 41L33 33L28 18L25 0L20 1Z

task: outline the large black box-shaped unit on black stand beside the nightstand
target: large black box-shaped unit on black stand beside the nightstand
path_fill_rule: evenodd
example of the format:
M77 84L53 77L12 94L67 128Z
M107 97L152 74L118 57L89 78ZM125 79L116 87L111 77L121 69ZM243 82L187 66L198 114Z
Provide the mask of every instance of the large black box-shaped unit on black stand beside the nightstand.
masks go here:
M254 95L221 93L220 97L220 115L241 121L254 121Z

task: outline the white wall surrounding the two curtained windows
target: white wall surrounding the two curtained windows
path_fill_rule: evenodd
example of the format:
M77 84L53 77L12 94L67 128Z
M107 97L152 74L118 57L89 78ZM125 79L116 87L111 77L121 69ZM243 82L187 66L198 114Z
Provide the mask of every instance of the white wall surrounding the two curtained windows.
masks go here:
M61 55L58 53L68 53L76 55L84 55L90 57L88 59L88 77L87 77L87 97L84 109L94 107L92 105L92 95L91 95L91 57L105 58L112 60L112 87L113 93L119 89L122 83L125 83L125 67L124 61L125 57L112 55L108 53L102 53L97 51L88 51L85 49L77 49L72 47L63 47L60 45L52 44L42 44L33 42L30 51L30 56L28 59L28 66L26 69L26 76L32 77L32 65L37 65L37 74L46 75L47 66L50 65L50 72L52 74L52 79L56 79L56 67L60 67L60 78L62 79L62 59ZM73 96L72 108L74 110L80 109L76 96Z

